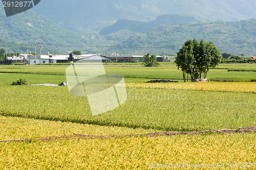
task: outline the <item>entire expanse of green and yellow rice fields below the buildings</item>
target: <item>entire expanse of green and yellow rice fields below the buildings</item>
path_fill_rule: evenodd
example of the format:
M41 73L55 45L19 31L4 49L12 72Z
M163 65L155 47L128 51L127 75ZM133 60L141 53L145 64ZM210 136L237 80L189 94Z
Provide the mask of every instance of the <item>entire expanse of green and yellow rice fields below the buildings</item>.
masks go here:
M174 64L152 69L109 65L106 70L121 72L127 80L128 99L121 107L93 117L87 99L77 100L66 87L10 86L18 78L29 83L65 81L65 66L1 66L0 140L29 140L0 142L0 169L256 169L256 133L36 139L73 133L127 135L256 126L256 82L249 82L255 72L225 70L237 67L224 64L209 75L216 80L237 77L239 82L148 84L142 82L182 75ZM139 99L178 93L186 95L186 100Z

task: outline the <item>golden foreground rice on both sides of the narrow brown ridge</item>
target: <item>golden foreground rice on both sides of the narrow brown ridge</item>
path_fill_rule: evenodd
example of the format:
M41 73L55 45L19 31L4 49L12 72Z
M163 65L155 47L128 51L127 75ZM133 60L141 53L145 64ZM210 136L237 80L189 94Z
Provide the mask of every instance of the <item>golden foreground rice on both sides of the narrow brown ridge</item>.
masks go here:
M154 132L3 116L0 116L0 125L4 132L0 134L1 139L74 132L98 135ZM148 169L183 163L185 169L193 169L187 168L189 164L218 166L223 163L227 169L228 163L240 166L240 163L255 162L255 139L255 133L248 133L0 142L0 169Z

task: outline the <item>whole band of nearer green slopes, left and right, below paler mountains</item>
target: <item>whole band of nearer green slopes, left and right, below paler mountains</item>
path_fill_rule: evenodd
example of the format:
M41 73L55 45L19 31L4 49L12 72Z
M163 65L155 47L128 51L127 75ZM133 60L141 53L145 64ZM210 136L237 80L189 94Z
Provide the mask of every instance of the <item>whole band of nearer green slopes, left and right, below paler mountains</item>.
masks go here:
M161 23L169 22L166 18L156 19L159 20ZM15 52L17 48L19 53L26 52L27 46L16 44L31 44L29 51L33 52L34 43L41 41L44 43L42 53L49 51L52 54L67 54L68 51L74 50L101 54L107 50L108 53L115 53L116 46L118 53L122 55L175 54L187 39L203 38L205 41L214 42L223 52L236 55L243 53L249 56L256 54L255 30L256 19L250 19L238 22L161 25L145 34L124 29L101 37L96 33L81 34L68 31L30 10L6 17L3 8L0 7L0 47L8 46L5 47L8 52Z

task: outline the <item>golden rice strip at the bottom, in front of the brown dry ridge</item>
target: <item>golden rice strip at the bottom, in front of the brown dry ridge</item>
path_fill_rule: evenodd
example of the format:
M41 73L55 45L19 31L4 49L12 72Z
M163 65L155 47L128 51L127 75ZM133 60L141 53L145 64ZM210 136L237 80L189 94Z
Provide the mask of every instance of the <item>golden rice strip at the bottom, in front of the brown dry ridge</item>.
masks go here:
M255 137L255 134L235 134L0 143L0 168L148 169L150 165L166 163L202 166L224 163L224 169L228 169L228 163L248 166L255 162ZM185 166L185 169L193 168Z

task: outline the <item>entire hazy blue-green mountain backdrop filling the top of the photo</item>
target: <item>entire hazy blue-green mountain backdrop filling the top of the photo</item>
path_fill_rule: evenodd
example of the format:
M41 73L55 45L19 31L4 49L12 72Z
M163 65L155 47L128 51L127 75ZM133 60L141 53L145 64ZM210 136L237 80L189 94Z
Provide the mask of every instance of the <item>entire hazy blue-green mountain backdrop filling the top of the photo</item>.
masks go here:
M5 17L1 6L0 45L41 40L55 54L114 53L115 46L121 55L175 54L187 39L203 38L223 52L256 55L254 9L254 0L44 0L34 12Z

